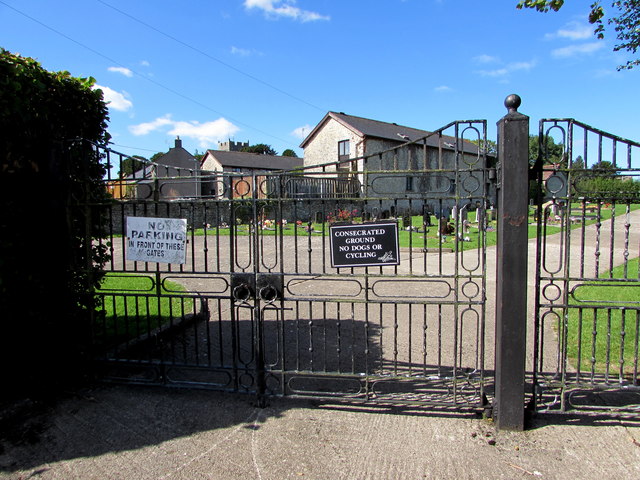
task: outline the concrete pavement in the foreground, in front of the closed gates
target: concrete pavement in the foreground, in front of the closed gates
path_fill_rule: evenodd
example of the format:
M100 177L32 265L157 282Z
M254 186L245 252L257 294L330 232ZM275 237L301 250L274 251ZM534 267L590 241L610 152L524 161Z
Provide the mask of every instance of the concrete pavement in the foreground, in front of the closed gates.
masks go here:
M541 416L496 432L472 414L95 386L3 440L3 479L640 477L640 422ZM30 432L24 434L24 432ZM5 434L7 432L5 431Z

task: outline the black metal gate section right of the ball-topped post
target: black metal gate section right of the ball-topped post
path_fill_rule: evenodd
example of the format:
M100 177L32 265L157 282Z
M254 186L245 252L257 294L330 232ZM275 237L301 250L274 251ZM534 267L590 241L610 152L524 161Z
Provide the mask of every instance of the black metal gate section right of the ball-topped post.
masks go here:
M640 144L574 120L539 138L533 400L637 411Z

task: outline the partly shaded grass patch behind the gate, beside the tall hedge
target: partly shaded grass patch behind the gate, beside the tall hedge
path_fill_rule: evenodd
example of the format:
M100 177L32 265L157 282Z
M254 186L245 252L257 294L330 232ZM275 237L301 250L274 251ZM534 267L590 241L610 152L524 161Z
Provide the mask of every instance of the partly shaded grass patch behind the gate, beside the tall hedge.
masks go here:
M107 273L98 296L95 337L113 345L139 338L193 312L193 299L181 295L185 288L164 281L160 295L154 276Z

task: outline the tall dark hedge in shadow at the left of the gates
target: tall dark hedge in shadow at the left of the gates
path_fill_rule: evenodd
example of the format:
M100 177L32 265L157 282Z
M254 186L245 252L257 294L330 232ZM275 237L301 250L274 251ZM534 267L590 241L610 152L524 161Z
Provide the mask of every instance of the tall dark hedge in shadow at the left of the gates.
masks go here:
M92 78L48 72L0 49L0 361L3 395L48 390L87 365L88 281L106 259L99 223L72 204L105 198L91 144L108 141Z

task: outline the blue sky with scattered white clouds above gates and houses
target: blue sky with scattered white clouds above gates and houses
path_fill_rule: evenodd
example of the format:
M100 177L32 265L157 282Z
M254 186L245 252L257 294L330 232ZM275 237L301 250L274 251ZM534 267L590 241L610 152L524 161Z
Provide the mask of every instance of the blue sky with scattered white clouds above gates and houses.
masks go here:
M0 46L92 76L114 150L146 157L218 141L302 156L327 111L435 130L487 119L517 93L531 117L640 140L640 68L587 23L517 0L0 0Z

